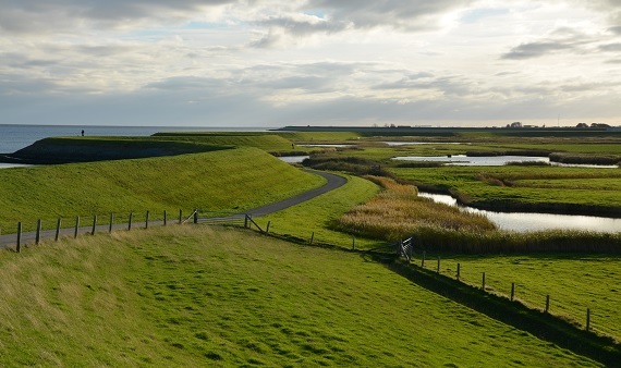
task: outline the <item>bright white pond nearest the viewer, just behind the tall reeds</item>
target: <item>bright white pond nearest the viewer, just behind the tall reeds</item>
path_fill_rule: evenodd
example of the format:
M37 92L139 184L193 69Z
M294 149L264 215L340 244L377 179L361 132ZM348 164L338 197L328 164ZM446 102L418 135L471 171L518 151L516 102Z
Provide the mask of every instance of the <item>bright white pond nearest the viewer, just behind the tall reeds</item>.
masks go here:
M459 207L462 211L480 213L487 217L502 230L529 232L540 230L585 230L595 232L621 232L621 219L601 218L595 216L550 214L537 212L495 212L472 207L459 206L458 201L448 195L419 193L418 196L434 201Z

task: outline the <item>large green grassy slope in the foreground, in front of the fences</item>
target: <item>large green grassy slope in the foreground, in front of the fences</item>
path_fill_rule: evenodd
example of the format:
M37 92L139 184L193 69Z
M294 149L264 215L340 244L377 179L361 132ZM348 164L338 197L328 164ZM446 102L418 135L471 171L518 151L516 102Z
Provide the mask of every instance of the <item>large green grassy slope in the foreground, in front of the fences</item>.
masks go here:
M207 226L0 253L1 366L598 366L365 261Z

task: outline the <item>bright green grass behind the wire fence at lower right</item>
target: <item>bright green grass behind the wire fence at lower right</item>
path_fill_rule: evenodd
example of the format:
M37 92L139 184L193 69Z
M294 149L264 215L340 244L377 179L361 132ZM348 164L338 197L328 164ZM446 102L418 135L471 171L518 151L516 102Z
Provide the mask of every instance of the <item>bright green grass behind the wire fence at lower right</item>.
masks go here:
M560 254L442 256L441 272L454 278L460 262L464 282L480 286L485 272L486 289L507 297L515 283L515 298L541 310L550 295L550 312L582 327L590 308L593 329L621 341L620 260L619 256ZM435 255L429 255L427 267L437 267Z

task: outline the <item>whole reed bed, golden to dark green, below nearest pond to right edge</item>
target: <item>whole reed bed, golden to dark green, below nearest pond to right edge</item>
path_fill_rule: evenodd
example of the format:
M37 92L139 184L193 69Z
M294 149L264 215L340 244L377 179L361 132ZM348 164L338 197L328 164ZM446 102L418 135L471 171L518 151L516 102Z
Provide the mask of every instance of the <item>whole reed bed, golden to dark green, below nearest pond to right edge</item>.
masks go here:
M418 197L415 186L366 179L383 191L338 219L336 230L389 242L413 237L417 249L438 253L621 253L621 233L499 231L484 216Z

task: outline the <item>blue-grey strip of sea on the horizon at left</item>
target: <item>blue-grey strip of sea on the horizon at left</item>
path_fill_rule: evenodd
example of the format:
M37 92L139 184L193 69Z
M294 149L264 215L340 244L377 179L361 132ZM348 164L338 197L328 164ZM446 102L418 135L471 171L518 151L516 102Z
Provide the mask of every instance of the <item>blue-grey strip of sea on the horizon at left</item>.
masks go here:
M0 124L0 154L13 154L47 137L149 136L160 132L265 132L271 127L212 126L101 126L101 125L11 125Z

